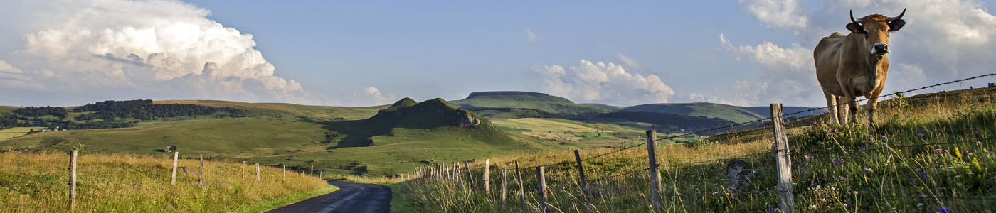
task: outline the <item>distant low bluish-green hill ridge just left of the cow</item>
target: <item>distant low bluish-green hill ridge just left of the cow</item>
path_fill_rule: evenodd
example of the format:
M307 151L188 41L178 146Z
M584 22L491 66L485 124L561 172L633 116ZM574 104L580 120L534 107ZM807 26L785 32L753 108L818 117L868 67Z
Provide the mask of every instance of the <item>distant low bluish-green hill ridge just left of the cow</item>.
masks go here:
M812 107L806 107L806 106L784 106L783 111L785 113L792 113L811 108ZM692 116L719 118L719 119L729 120L732 122L745 122L757 118L768 117L771 115L770 114L771 111L768 109L768 106L729 106L729 105L721 105L713 103L650 104L650 105L639 105L639 106L627 106L620 109L620 111L685 114ZM794 114L789 116L807 116L819 113L823 113L823 111L815 110L812 112Z

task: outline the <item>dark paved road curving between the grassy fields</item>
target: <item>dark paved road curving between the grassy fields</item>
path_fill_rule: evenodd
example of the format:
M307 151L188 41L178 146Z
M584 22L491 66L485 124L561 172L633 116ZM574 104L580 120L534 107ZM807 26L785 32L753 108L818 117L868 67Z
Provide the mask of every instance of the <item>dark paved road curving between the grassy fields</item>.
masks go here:
M339 190L269 212L380 213L390 210L390 188L387 186L367 183L330 183L338 186Z

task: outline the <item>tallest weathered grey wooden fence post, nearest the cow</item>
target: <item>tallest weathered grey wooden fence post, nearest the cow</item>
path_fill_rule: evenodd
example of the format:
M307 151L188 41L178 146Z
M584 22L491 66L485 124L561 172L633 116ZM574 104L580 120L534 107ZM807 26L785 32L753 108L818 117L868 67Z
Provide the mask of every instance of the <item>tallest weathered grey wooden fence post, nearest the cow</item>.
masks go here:
M789 158L789 138L782 123L782 104L771 104L771 128L775 134L775 154L778 164L778 204L782 211L795 211L792 195L792 160Z

